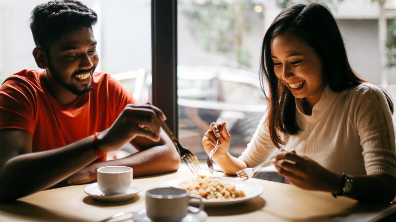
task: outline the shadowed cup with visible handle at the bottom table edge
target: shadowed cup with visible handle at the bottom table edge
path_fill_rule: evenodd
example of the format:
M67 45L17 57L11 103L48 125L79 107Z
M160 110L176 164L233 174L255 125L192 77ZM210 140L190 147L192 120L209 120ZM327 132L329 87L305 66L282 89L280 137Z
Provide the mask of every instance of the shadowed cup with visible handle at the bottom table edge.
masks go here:
M188 208L191 199L200 201L197 210L192 211ZM188 212L199 213L203 208L202 197L189 194L187 190L171 187L155 188L146 192L147 216L154 222L179 222Z

